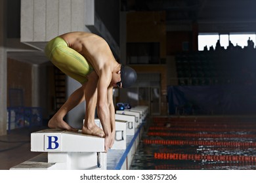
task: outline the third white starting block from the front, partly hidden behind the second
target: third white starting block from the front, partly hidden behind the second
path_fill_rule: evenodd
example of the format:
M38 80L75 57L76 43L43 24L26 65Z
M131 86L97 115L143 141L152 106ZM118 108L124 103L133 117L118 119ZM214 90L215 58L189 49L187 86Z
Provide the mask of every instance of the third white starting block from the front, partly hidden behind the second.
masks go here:
M116 120L125 120L127 121L126 135L135 135L135 116L124 115L124 114L115 114Z

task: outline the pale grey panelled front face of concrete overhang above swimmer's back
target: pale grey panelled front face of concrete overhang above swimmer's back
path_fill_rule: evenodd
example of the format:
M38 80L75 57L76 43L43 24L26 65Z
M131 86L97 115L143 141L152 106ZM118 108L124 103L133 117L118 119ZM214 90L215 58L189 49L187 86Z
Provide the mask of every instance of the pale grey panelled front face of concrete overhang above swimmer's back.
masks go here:
M22 0L20 41L45 42L85 31L85 0Z

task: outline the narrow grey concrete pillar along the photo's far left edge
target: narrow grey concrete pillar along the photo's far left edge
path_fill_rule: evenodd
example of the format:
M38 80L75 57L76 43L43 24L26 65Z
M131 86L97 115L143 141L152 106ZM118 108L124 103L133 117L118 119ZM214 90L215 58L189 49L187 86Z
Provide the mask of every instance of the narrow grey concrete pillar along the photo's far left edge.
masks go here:
M0 1L0 135L7 134L6 5L7 0Z

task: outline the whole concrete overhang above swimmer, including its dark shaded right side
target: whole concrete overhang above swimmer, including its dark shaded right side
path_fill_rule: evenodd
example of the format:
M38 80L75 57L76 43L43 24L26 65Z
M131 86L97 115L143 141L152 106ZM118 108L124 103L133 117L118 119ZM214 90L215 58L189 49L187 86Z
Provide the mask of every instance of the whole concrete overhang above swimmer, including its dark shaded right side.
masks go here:
M95 0L21 0L20 14L21 42L43 50L46 42L58 35L87 31L106 39L119 58L119 42L96 16ZM106 12L105 16L110 15Z

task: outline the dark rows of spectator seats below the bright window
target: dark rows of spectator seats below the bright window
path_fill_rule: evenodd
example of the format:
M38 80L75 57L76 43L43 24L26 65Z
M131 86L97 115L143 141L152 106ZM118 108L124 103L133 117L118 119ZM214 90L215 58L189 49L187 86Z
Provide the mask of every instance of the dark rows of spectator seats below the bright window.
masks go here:
M246 83L254 73L255 53L255 50L221 50L177 54L175 61L179 85Z

